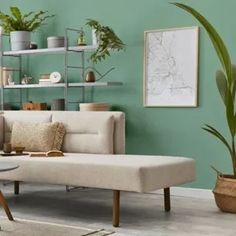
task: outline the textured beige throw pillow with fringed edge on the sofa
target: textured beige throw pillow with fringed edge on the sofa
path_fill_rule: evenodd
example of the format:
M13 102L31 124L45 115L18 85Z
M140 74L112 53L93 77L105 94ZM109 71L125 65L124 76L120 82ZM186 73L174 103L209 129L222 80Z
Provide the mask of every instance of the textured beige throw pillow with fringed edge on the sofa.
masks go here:
M63 123L14 122L11 133L13 147L23 146L29 152L60 150L65 135Z

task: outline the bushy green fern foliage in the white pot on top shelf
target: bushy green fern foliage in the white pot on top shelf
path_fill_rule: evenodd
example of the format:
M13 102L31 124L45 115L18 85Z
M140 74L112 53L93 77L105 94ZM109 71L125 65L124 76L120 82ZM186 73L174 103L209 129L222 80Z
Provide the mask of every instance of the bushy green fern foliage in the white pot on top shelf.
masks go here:
M18 7L10 7L11 15L0 11L1 26L5 33L12 31L34 31L39 28L48 18L54 15L48 15L48 11L29 12L23 14Z

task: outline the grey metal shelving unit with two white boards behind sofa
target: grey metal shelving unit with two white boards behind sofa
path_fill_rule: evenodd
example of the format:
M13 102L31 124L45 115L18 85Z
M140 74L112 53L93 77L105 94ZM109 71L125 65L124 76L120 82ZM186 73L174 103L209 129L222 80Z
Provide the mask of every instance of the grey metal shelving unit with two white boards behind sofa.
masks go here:
M69 69L78 69L80 70L81 78L83 79L85 76L85 52L91 52L96 50L96 46L88 45L88 46L69 46L68 45L68 34L70 31L74 31L76 33L80 32L80 30L67 28L65 29L65 45L64 47L59 48L43 48L43 49L29 49L29 50L21 50L21 51L3 51L3 36L0 36L0 66L4 67L3 58L4 57L15 57L19 59L17 69L13 69L13 71L19 72L19 84L15 85L3 85L3 80L0 86L0 110L4 110L4 90L5 89L20 89L20 104L22 104L22 89L40 89L40 88L64 88L64 98L66 101L66 109L68 108L68 89L72 87L77 87L81 89L82 92L82 102L85 100L85 87L106 87L106 86L121 86L122 82L69 82L68 78L68 70ZM69 54L70 53L78 53L81 56L81 65L69 65ZM21 84L22 78L22 56L31 56L31 55L53 55L53 54L62 54L64 55L64 83L56 83L56 84ZM1 78L3 78L3 69L1 69ZM28 94L28 92L27 92Z

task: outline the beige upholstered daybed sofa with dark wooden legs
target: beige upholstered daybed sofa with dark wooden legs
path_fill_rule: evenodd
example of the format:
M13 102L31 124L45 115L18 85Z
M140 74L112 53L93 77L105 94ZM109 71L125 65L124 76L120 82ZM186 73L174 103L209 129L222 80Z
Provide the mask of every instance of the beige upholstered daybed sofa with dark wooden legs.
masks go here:
M170 210L169 188L195 179L190 158L125 154L125 116L122 112L6 111L0 114L0 147L9 142L14 121L63 122L65 156L61 158L0 157L19 168L0 173L0 179L84 186L113 190L113 225L119 225L120 191L164 189Z

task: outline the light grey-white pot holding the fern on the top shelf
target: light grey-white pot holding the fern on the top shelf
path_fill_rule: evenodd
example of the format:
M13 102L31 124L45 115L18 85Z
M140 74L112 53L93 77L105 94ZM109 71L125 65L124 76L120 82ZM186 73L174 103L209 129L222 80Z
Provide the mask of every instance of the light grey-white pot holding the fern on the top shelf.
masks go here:
M11 50L30 49L31 32L29 31L12 31L10 32Z

